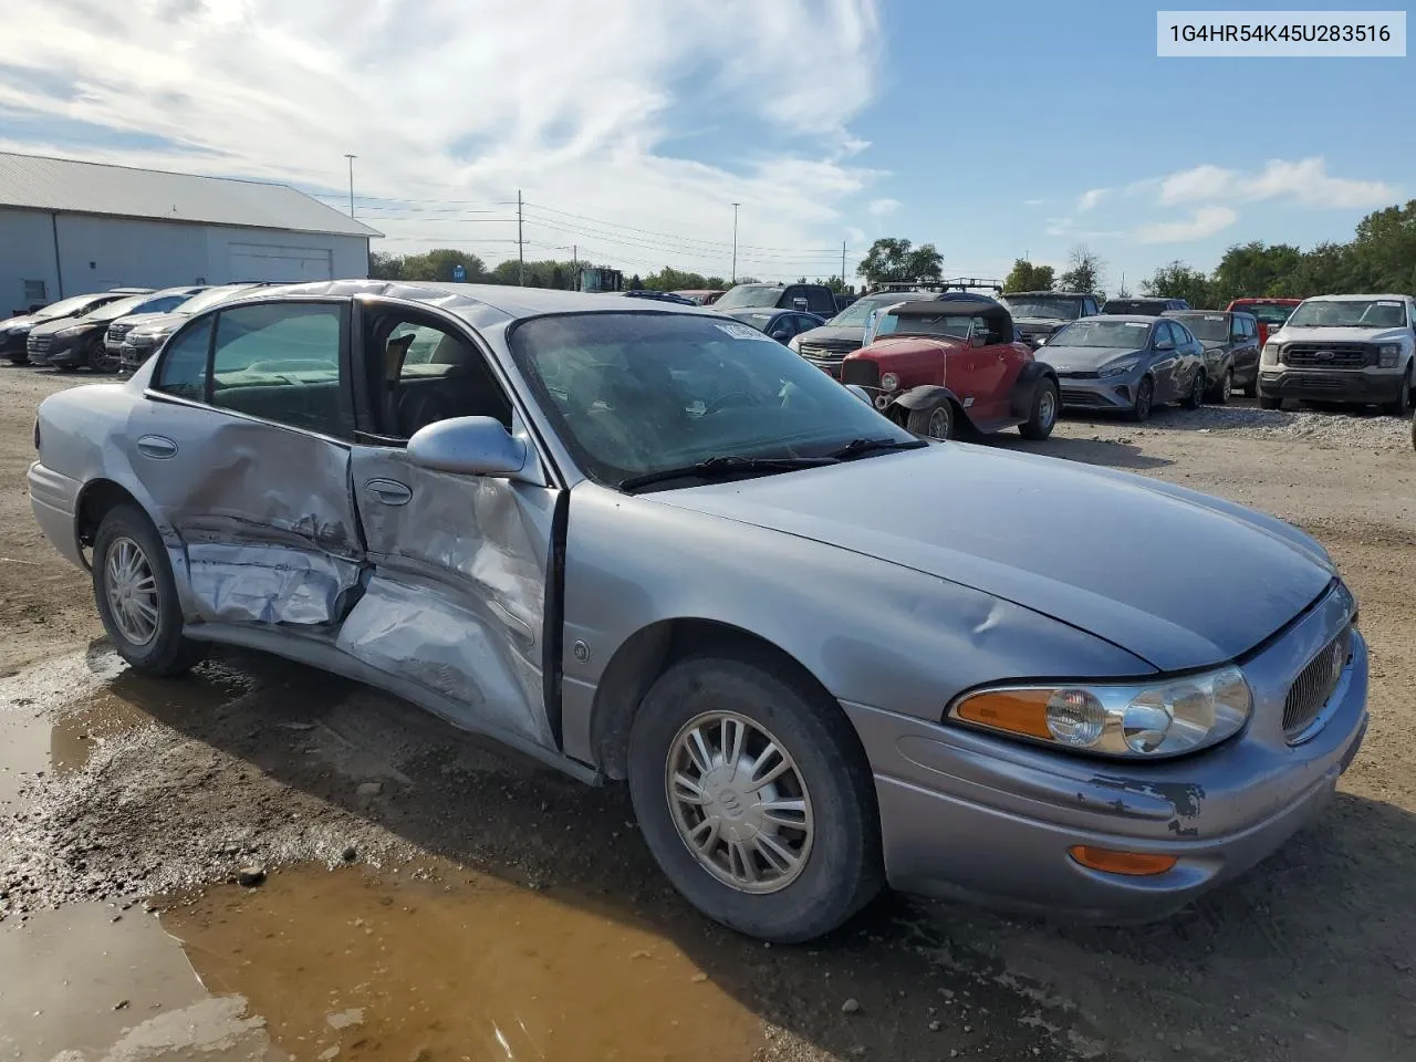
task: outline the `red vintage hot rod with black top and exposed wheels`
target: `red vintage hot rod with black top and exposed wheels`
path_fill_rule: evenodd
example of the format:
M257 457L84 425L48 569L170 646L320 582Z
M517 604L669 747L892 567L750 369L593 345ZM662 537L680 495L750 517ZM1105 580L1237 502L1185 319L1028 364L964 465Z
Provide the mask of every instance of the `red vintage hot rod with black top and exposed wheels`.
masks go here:
M841 382L926 439L964 426L1046 439L1058 419L1056 371L1017 334L1001 303L969 292L881 307L865 346L841 362Z

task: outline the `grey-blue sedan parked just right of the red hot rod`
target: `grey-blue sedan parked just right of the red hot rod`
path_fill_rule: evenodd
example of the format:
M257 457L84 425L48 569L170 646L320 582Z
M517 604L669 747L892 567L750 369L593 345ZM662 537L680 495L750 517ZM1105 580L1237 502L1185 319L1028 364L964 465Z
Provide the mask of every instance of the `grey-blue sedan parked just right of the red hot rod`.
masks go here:
M1110 314L1059 329L1037 351L1056 370L1062 406L1146 421L1164 402L1205 401L1205 348L1180 321Z

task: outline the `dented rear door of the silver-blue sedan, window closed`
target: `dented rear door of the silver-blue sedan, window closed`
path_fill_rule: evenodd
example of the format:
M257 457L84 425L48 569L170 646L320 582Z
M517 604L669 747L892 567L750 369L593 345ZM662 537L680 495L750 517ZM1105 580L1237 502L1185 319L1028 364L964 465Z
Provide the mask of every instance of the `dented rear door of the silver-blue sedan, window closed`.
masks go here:
M348 490L350 302L272 302L173 337L125 447L208 623L337 624L362 549Z

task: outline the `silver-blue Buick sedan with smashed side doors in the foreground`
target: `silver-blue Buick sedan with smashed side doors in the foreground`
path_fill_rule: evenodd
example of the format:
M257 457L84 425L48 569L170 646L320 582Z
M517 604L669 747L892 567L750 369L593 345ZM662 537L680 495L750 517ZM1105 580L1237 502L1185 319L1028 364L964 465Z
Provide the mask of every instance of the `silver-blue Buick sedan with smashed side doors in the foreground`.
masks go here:
M627 779L674 885L769 940L886 882L1164 916L1311 818L1366 726L1307 535L913 439L698 307L268 289L47 398L35 445L135 668L268 650Z

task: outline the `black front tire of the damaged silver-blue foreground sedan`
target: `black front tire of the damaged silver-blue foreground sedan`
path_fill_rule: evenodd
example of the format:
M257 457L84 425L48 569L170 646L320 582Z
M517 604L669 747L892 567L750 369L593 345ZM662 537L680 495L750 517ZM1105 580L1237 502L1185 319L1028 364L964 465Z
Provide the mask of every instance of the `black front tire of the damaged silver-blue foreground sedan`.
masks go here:
M790 756L792 767L770 783L770 799L800 800L800 821L809 826L779 830L767 824L752 834L773 838L779 848L800 857L796 867L786 860L769 865L762 855L766 847L749 851L756 885L746 884L749 875L738 869L746 864L735 864L726 837L704 810L715 809L724 830L755 828L753 793L731 786L755 765L714 775L726 770L718 718L724 714L755 731L743 731L738 765L765 748L766 739ZM708 763L714 766L707 773L687 752L697 725L708 735ZM786 762L773 756L762 770L770 775ZM701 792L716 796L708 803L673 803L671 769L673 777L709 779ZM718 782L728 784L711 789ZM766 654L698 656L670 667L634 716L629 787L644 840L668 879L704 915L741 933L775 943L811 940L845 922L884 885L875 787L855 731L838 705ZM683 784L675 789L691 792ZM799 813L779 814L796 821ZM707 857L690 848L690 821L707 826L704 837L714 838Z

